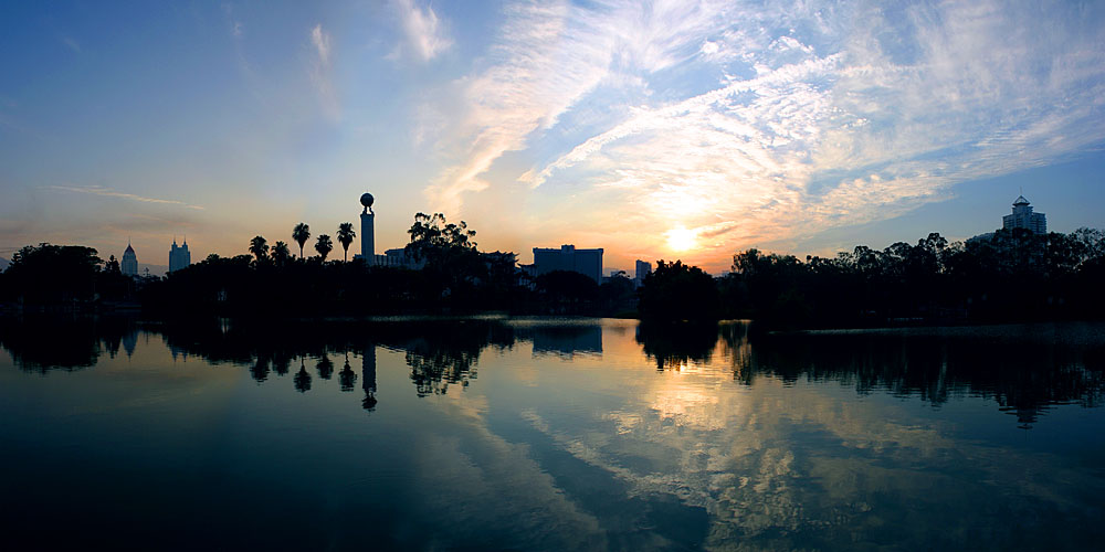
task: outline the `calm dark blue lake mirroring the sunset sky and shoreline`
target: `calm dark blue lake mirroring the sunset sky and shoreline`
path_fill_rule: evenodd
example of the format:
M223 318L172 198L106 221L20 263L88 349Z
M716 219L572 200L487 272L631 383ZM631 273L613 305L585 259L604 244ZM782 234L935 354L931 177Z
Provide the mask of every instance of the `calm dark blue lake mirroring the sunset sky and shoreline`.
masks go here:
M7 322L0 529L33 549L1092 549L1103 397L1101 325Z

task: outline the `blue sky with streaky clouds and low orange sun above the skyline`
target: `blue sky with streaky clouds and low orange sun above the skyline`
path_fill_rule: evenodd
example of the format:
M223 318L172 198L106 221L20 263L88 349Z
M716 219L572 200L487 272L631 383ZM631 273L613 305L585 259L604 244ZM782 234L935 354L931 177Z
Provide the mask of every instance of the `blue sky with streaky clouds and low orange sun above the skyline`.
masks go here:
M524 263L716 274L966 238L1022 192L1102 227L1103 146L1098 1L0 4L3 257L242 254L369 191L378 253L442 212Z

